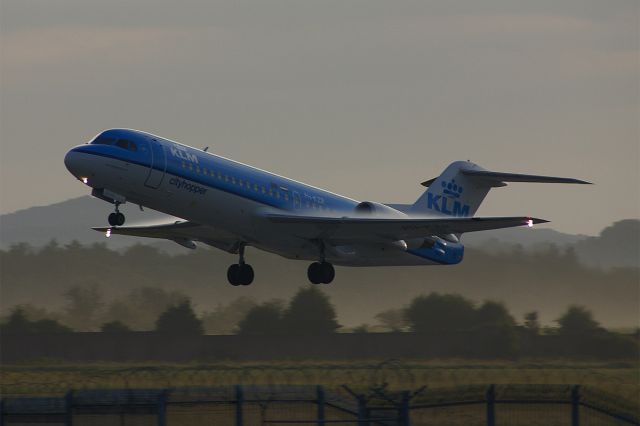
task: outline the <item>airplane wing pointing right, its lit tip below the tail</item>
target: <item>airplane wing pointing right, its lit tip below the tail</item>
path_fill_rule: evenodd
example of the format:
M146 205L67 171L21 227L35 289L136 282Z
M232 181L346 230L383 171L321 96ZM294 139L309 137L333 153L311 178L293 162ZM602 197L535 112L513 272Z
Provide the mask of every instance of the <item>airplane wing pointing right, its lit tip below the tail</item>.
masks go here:
M462 234L548 222L531 217L355 218L267 214L273 223L287 224L301 238L330 241L374 241Z

